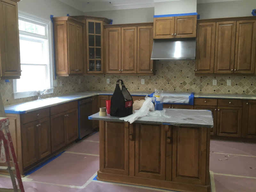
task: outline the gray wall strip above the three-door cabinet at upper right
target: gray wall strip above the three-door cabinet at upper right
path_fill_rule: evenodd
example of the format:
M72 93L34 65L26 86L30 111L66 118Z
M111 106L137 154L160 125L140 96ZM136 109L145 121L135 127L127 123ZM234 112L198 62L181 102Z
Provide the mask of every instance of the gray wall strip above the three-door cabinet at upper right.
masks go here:
M252 9L256 9L256 0L197 4L200 19L252 16Z

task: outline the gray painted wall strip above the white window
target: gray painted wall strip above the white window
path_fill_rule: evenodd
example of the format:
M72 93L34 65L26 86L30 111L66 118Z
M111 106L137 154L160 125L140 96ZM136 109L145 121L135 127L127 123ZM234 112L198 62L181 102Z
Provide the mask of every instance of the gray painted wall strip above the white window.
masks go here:
M22 0L18 3L18 10L47 20L50 20L50 15L84 15L83 12L58 0Z

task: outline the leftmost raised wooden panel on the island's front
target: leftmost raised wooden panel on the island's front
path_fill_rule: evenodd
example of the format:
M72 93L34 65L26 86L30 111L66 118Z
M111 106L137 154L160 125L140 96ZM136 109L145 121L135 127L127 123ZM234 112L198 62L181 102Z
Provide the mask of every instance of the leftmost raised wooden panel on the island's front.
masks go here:
M100 172L129 174L128 123L100 121Z

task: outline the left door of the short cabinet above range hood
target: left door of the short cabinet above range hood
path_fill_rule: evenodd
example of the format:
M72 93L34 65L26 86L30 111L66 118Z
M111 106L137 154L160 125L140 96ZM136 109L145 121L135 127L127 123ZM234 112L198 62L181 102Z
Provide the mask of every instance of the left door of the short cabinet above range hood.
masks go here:
M154 18L154 39L174 38L174 17Z

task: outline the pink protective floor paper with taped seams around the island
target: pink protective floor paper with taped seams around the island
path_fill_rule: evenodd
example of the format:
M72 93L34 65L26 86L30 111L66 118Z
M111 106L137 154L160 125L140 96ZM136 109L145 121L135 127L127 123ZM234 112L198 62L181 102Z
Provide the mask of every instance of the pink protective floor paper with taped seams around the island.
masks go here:
M211 140L210 151L212 192L256 191L256 144ZM93 180L98 170L96 132L22 180L26 192L171 192ZM0 175L0 188L11 187L10 177Z

